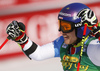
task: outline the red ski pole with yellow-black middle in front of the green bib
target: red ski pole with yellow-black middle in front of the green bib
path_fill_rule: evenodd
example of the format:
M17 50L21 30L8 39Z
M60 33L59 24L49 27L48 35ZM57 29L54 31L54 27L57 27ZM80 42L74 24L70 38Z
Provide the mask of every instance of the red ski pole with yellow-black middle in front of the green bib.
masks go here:
M82 57L83 48L84 48L84 38L85 38L85 35L86 35L86 29L87 29L87 23L85 23L85 25L84 25L84 31L83 31L83 37L82 37L82 44L81 44L81 52L80 52L80 56L79 56L79 62L78 62L78 66L77 66L77 71L79 71L79 68L80 68L81 57Z

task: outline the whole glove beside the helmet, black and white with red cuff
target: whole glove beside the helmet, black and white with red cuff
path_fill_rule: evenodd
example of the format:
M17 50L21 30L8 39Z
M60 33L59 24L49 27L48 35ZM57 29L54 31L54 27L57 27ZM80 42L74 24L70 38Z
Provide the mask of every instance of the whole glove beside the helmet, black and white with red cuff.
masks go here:
M88 28L91 30L91 35L99 38L100 37L100 23L98 23L98 19L95 13L90 9L83 9L79 14L81 17L82 24L87 24Z

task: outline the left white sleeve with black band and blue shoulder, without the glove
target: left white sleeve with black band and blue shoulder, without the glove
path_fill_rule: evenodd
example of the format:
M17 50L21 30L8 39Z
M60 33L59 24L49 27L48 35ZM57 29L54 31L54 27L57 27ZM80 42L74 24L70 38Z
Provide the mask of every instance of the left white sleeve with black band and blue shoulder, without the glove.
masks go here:
M44 60L48 58L53 57L60 57L60 47L62 43L64 42L63 37L58 37L56 40L54 40L51 43L48 43L46 45L39 46L37 45L36 50L34 50L34 47L32 46L32 41L29 39L28 43L21 45L23 48L23 52L31 59L35 60ZM26 51L31 52L28 54Z

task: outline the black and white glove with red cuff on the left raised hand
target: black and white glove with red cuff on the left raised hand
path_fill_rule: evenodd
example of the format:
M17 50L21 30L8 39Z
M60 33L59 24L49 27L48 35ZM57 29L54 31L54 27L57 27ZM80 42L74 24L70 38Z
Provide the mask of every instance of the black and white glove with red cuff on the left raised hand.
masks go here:
M7 26L6 32L9 35L7 38L18 44L25 44L28 41L28 37L25 34L25 25L21 22L12 21Z

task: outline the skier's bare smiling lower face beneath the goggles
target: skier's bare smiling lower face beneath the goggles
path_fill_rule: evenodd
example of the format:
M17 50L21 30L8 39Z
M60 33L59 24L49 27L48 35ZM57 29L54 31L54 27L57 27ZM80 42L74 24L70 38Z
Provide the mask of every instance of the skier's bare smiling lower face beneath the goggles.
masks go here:
M65 44L74 44L77 40L77 37L75 35L75 29L72 32L69 33L63 33L62 31L60 31L61 34L64 37L64 43Z

